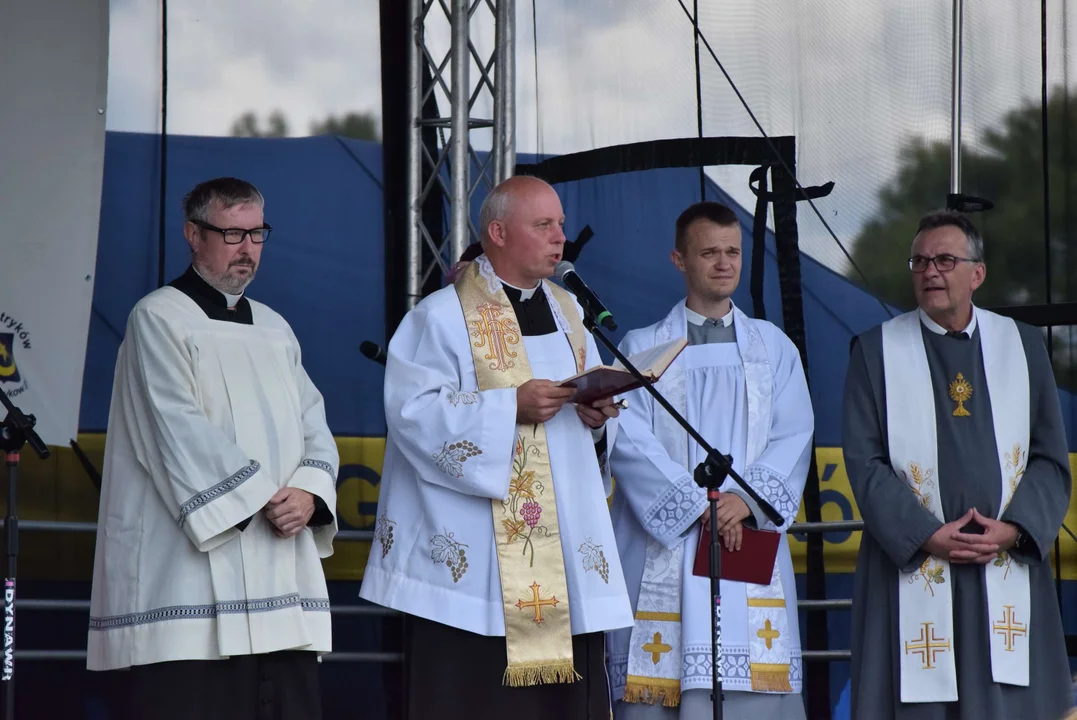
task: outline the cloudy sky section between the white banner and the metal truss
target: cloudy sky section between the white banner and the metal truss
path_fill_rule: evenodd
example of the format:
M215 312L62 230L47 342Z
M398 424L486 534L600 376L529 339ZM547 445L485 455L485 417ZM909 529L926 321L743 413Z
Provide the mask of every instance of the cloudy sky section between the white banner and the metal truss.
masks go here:
M284 113L293 133L351 111L380 115L377 0L215 0L169 8L168 130L227 135L247 111ZM110 130L159 129L160 32L153 0L114 2Z

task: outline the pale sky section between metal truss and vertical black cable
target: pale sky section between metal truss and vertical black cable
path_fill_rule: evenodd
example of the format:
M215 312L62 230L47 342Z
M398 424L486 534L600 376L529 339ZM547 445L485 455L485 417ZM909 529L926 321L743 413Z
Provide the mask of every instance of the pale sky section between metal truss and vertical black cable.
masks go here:
M575 4L542 3L537 60L530 12L518 17L518 149L568 153L694 136L691 27L680 6L626 0L568 10Z

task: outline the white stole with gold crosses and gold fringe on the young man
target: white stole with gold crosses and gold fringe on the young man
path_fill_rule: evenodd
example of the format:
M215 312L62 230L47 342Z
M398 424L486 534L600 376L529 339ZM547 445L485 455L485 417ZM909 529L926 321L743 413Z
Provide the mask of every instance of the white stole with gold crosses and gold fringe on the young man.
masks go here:
M774 383L761 334L738 308L733 307L732 313L747 400L746 455L743 465L737 464L747 467L759 457L770 439ZM677 337L676 334L686 334L684 303L674 309L670 319L672 322L663 323L656 333L656 344ZM677 362L666 371L657 387L682 417L688 417L685 372ZM689 467L688 434L661 408L655 409L654 432L672 460L688 470L694 469ZM737 452L728 448L717 450ZM654 538L647 540L635 622L629 643L624 695L627 703L661 703L667 707L680 705L684 649L681 627L684 553L696 550L695 547L686 548L686 541L681 541L665 547ZM745 595L751 689L755 692L792 692L788 620L777 561L770 584L745 583ZM718 624L721 633L721 616Z

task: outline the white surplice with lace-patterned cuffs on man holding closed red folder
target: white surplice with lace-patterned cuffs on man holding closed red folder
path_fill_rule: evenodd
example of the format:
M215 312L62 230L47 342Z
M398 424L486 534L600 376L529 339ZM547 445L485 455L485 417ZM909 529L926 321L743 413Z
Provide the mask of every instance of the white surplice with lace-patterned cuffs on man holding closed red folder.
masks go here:
M722 492L739 495L752 510L760 530L783 532L777 565L785 598L789 684L802 687L800 632L797 622L797 593L784 531L796 518L811 458L814 414L811 397L793 342L774 325L752 320L733 308L737 342L689 345L656 383L661 392L700 435L717 451L731 454L733 469L782 516L775 527L758 506L732 479ZM628 355L687 335L685 302L682 300L662 321L628 333L621 351ZM750 337L761 342L764 369L769 367L771 396L763 398L767 409L758 428L766 438L758 456L746 464L749 387L742 355ZM753 381L758 383L758 380ZM698 443L687 438L675 421L645 390L628 396L621 412L616 443L611 451L611 468L617 481L612 514L617 548L633 609L639 603L640 581L649 539L667 547L683 543L681 581L681 689L710 689L711 682L711 592L710 580L693 575L699 542L699 518L707 508L705 491L691 471L704 460ZM757 398L757 401L758 398ZM746 585L722 580L722 675L729 691L752 691L749 673L750 633ZM611 683L615 700L624 695L628 675L630 631L610 634Z

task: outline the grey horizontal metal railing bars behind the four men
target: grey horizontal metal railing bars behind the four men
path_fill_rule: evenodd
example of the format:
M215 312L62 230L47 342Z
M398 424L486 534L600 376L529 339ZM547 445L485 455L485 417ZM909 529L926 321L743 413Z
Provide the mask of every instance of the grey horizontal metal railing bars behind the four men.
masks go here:
M3 519L0 519L0 528L3 527ZM67 522L58 520L20 520L19 531L41 532L41 533L96 533L97 523L92 522ZM788 534L802 533L845 533L864 530L864 522L859 520L817 522L817 523L793 523L789 525ZM342 530L336 534L337 540L348 542L373 541L374 532L367 530ZM850 598L834 599L798 599L797 607L809 612L826 612L830 610L850 610L853 601ZM18 601L18 610L30 611L75 611L88 612L88 599L44 599L26 598ZM367 617L395 617L400 612L382 607L380 605L332 605L331 615L339 616L367 616ZM849 650L802 650L801 657L811 661L842 661L850 660ZM16 650L16 660L27 661L84 661L85 650ZM322 655L323 662L354 662L354 663L398 663L404 661L404 654L400 652L330 652Z

